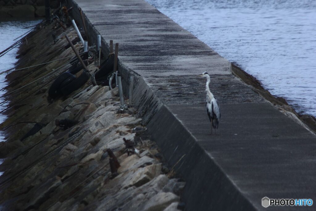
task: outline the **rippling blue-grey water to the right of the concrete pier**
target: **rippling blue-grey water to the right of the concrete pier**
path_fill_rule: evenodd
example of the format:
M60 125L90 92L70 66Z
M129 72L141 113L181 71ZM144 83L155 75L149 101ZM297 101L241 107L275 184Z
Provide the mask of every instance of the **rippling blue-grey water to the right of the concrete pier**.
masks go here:
M147 0L297 112L316 116L316 1Z

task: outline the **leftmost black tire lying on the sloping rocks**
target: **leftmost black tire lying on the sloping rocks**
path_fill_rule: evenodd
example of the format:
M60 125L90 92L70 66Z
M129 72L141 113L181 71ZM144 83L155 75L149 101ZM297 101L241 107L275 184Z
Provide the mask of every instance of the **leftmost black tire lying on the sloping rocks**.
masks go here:
M55 81L49 87L48 96L52 99L55 99L58 95L62 93L60 90L62 88L61 84L65 82L63 85L64 86L68 85L71 81L75 79L76 79L76 76L74 76L70 72L63 72L55 79Z

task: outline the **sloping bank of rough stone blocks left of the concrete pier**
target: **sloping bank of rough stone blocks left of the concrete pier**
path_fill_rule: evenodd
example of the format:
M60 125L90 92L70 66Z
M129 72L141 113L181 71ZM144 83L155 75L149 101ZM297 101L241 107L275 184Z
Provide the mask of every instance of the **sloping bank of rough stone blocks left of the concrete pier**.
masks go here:
M64 36L74 40L76 33L54 23L38 27L22 43L16 69L60 60L7 75L12 93L6 96L8 119L1 124L7 135L0 146L5 158L0 166L1 210L181 208L185 183L166 166L142 119L136 118L136 108L117 113L117 88L88 81L68 96L47 99L52 82L74 55ZM47 77L50 73L55 74ZM23 91L14 92L19 88ZM30 134L36 125L41 129Z

